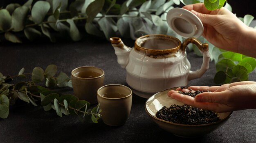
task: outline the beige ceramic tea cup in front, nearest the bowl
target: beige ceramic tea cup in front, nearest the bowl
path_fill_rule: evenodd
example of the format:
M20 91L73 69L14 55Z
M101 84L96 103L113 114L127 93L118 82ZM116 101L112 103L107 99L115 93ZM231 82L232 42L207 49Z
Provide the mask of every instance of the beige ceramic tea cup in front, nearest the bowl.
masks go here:
M97 91L102 121L109 126L124 125L132 107L132 90L124 85L105 85Z

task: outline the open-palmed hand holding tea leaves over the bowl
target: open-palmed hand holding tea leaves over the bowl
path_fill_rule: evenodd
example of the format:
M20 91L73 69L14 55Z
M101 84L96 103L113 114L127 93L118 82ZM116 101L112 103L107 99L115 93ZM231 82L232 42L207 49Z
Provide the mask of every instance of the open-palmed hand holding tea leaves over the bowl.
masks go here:
M256 82L243 81L225 84L222 86L191 86L182 89L183 92L193 91L211 91L203 92L195 98L182 95L177 91L169 91L168 96L171 98L204 110L211 110L217 113L228 111L237 111L244 109L256 109ZM177 88L176 90L181 90ZM192 92L193 92L192 91Z

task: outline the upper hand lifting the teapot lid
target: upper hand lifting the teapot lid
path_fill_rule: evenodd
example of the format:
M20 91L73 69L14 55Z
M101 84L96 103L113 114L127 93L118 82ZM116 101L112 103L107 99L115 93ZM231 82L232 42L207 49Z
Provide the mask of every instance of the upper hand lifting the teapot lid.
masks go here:
M225 7L209 11L203 3L190 4L183 7L197 15L204 25L203 37L218 48L239 52L255 57L255 52L250 53L247 43L255 43L256 30L249 28ZM249 33L254 31L254 35ZM249 38L248 38L249 37ZM251 41L249 41L252 39ZM254 44L253 44L254 45ZM255 50L254 50L255 51Z

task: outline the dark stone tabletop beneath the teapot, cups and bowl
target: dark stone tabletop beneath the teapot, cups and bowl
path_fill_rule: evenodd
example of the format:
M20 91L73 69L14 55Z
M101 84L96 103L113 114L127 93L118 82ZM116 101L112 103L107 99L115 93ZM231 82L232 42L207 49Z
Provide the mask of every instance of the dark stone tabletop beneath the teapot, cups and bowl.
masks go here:
M117 63L114 49L106 39L85 36L82 41L62 41L49 43L0 45L0 72L16 75L22 67L31 73L36 66L45 69L49 64L58 66L58 72L70 72L79 66L96 66L106 73L107 84L127 85L126 71ZM49 40L48 40L49 41ZM134 41L124 40L132 46ZM188 52L192 70L199 69L202 57ZM189 85L215 85L213 76L215 65L210 63L209 70L202 78L192 80ZM14 82L29 80L17 78ZM249 80L256 81L255 72ZM57 89L73 94L71 88ZM41 106L33 106L19 101L10 108L7 119L0 119L1 143L133 143L133 142L202 142L202 143L255 143L256 110L235 111L225 125L218 130L195 139L184 139L170 134L155 124L146 114L146 99L133 95L132 109L126 124L112 127L103 124L81 123L76 116L58 117L54 110L44 111ZM245 103L246 104L246 103Z

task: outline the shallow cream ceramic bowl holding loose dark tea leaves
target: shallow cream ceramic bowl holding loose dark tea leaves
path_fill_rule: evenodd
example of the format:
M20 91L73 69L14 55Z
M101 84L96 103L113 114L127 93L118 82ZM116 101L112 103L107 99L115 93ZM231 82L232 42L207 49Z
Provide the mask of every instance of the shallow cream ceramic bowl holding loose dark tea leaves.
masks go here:
M164 121L162 119L158 119L155 114L159 111L163 106L169 107L173 104L183 105L182 102L178 102L167 96L168 91L175 90L175 88L166 89L164 91L160 91L150 97L145 104L146 113L150 116L153 121L162 129L171 132L172 134L179 137L199 137L204 134L208 134L218 129L220 126L225 124L225 122L229 119L233 112L227 113L218 113L220 117L220 121L211 124L202 124L202 125L185 125L185 124L175 124L169 121Z

